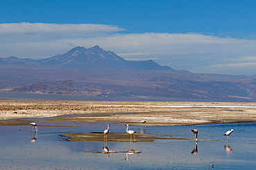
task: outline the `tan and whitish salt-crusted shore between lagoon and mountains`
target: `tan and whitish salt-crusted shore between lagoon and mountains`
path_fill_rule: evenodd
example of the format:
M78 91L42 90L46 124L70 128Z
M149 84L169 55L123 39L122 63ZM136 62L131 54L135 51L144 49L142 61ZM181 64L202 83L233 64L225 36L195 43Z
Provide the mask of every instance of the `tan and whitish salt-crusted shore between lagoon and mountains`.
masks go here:
M145 126L256 122L256 103L0 101L0 120L60 115L73 115L60 117L62 121L134 125L142 119Z

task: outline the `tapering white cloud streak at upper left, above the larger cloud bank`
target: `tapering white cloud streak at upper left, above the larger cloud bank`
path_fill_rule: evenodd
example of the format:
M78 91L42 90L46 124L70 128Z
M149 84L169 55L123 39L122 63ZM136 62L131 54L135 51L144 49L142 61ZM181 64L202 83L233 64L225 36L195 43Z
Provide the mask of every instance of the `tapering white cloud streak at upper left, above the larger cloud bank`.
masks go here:
M0 23L0 44L98 37L123 30L104 24Z

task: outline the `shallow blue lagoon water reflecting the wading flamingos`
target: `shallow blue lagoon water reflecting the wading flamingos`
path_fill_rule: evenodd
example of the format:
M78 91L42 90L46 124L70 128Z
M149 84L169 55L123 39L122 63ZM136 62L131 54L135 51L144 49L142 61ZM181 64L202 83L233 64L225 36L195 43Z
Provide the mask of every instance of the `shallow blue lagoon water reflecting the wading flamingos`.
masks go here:
M30 120L39 122L37 136L29 125L0 126L0 169L254 169L256 166L256 123L129 127L138 133L189 139L193 138L190 130L198 129L196 153L193 140L73 142L61 134L102 132L107 124L68 122L58 124L65 126L43 126L49 125L48 122ZM125 133L126 126L111 124L110 128L111 133ZM230 129L235 131L228 142L223 133ZM88 152L102 152L105 146L118 153ZM126 153L130 149L141 153Z

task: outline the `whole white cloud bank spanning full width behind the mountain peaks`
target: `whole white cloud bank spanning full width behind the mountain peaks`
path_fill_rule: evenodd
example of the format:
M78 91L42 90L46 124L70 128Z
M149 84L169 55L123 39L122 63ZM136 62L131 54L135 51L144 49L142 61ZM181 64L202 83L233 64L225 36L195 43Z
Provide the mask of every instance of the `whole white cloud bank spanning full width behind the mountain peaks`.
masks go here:
M13 55L39 59L66 53L75 46L89 48L99 45L125 59L154 59L158 64L176 70L256 74L253 69L256 60L255 40L197 33L131 34L122 32L124 30L119 26L104 24L1 23L0 57ZM236 66L248 68L246 71L235 70Z

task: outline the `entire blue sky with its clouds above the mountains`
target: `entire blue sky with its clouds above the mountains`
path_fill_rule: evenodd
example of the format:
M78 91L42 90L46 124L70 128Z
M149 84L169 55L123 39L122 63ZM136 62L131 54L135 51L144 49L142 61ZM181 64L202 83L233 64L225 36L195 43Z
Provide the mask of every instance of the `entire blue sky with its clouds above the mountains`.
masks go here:
M99 45L193 73L256 75L256 1L0 0L0 57Z

